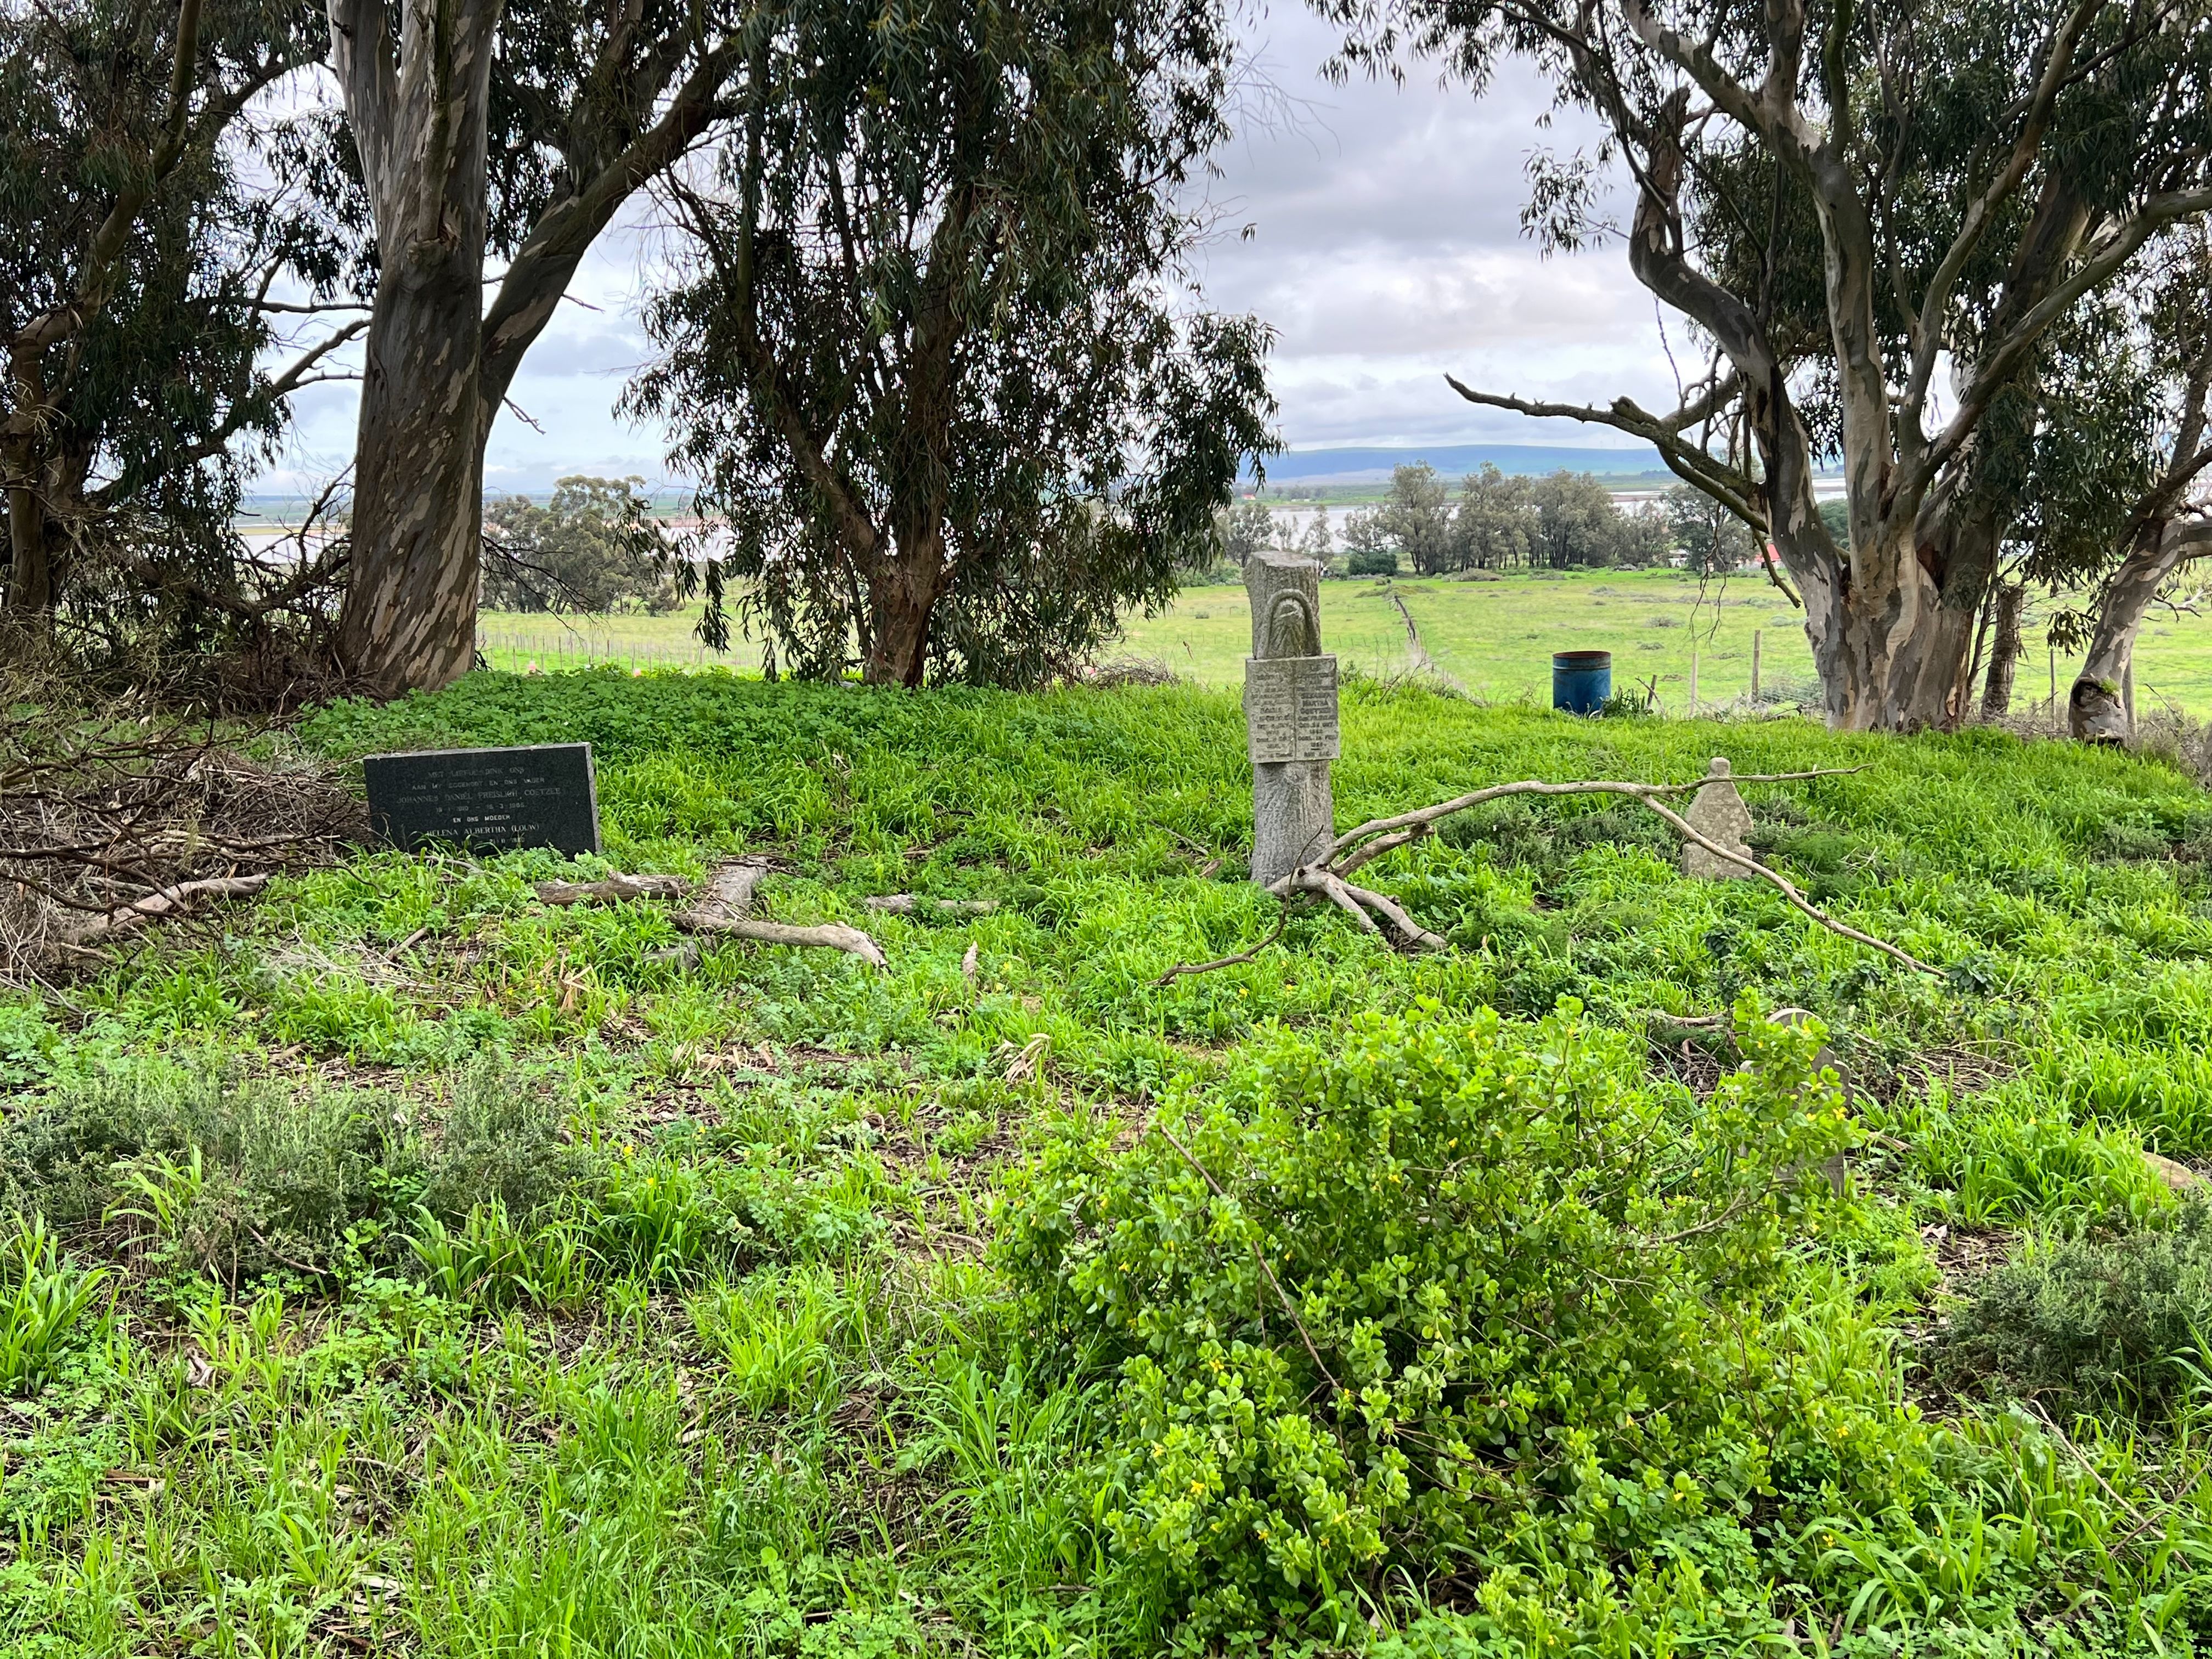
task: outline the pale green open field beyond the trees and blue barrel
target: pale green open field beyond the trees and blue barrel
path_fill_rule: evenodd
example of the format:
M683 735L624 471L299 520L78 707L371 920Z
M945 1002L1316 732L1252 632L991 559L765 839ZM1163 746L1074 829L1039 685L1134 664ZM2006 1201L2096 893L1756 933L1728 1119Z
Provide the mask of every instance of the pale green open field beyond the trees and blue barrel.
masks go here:
M1400 613L1398 604L1405 604ZM1509 575L1498 582L1329 582L1321 595L1323 644L1369 677L1407 672L1411 615L1429 659L1482 701L1551 701L1553 650L1610 650L1617 692L1655 695L1663 712L1690 710L1690 659L1697 655L1699 710L1732 706L1752 690L1752 635L1759 635L1761 701L1818 701L1801 613L1756 577L1699 584L1679 571L1584 571ZM487 657L498 668L555 670L582 659L624 666L703 659L684 617L595 617L564 626L553 617L487 615ZM2051 653L2042 611L2028 615L2028 659L2020 664L2015 708L2048 708ZM1252 622L1241 586L1186 588L1159 617L1130 617L1124 650L1166 664L1201 686L1237 686ZM732 659L754 666L739 646ZM2055 659L2059 695L2077 657ZM2212 717L2212 617L2152 617L2137 648L2137 708L2172 703Z

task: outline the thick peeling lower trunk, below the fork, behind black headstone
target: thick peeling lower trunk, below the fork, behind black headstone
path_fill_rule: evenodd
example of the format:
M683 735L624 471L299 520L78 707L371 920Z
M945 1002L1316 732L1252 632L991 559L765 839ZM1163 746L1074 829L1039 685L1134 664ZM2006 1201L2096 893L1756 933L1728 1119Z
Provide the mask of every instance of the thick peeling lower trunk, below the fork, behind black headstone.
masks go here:
M338 655L376 697L447 686L476 661L482 254L409 252L411 268L378 283L369 321L338 615Z

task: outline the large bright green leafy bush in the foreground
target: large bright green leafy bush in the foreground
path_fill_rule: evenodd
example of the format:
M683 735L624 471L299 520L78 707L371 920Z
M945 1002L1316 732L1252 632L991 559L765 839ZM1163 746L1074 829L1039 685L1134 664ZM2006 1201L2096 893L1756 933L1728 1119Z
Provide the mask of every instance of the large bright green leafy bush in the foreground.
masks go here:
M1197 1632L1464 1571L1493 1504L1595 1566L1759 1484L1739 1332L1854 1139L1820 1037L1743 1004L1697 1102L1577 1015L1279 1040L1159 1133L1071 1124L1015 1172L1022 1325L1119 1376L1106 1524Z

